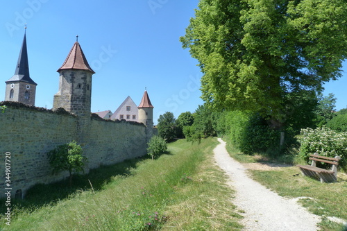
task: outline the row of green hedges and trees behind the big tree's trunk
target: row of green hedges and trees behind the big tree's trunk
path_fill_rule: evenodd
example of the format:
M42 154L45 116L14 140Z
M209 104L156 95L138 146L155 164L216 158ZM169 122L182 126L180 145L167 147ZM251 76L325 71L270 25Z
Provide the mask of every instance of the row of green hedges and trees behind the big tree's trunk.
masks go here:
M180 138L198 142L205 137L225 136L243 153L264 153L271 157L284 155L287 148L298 144L296 136L303 128L326 126L347 132L347 108L335 112L333 94L305 92L291 96L290 102L280 128L273 126L271 117L257 111L216 110L204 104L193 113L183 112L177 119L172 112L160 115L158 132L167 142Z

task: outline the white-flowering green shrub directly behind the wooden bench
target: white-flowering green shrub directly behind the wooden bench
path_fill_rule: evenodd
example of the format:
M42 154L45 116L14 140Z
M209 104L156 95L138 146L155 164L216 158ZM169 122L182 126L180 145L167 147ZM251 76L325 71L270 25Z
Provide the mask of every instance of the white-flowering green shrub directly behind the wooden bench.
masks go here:
M347 170L347 132L336 132L330 128L306 128L301 130L302 137L299 155L308 162L310 154L318 153L326 157L339 155L339 166ZM324 166L324 164L322 164ZM331 166L325 164L325 166Z

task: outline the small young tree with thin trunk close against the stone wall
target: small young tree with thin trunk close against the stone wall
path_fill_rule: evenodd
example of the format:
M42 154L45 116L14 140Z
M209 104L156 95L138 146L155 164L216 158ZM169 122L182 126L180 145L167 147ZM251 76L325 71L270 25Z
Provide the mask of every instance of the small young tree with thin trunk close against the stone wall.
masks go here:
M47 153L49 164L53 173L69 171L70 185L73 172L83 172L83 166L87 162L87 157L83 157L83 150L75 141L62 144Z

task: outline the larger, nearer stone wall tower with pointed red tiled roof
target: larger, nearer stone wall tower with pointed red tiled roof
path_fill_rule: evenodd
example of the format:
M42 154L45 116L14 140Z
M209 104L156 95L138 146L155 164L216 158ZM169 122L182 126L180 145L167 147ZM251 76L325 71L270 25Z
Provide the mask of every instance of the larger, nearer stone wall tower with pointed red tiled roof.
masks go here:
M92 75L95 72L88 64L78 40L58 72L59 91L54 95L53 110L64 108L80 117L90 117Z

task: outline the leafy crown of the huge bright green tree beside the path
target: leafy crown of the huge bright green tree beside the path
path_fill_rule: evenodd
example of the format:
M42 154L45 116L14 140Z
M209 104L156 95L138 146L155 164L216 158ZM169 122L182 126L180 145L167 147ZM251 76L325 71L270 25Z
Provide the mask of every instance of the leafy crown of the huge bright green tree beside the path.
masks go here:
M287 94L319 92L341 76L346 0L201 0L198 8L180 41L199 62L210 105L281 121Z

